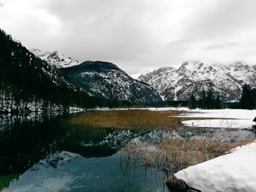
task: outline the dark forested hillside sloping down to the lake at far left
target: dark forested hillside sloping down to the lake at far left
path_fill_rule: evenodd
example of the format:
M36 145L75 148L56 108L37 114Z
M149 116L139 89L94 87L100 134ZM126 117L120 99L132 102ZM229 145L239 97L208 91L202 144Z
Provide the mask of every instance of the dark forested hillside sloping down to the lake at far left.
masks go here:
M109 104L80 91L54 67L0 30L0 112Z

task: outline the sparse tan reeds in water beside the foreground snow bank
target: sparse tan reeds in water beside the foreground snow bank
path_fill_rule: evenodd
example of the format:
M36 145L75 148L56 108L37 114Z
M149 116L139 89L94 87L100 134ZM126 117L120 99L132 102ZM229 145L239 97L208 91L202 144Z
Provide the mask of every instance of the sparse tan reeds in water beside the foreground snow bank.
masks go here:
M124 147L124 152L129 162L154 166L173 173L217 158L219 155L225 155L234 147L246 145L253 140L231 143L221 139L170 139L161 141L157 145L130 142Z

